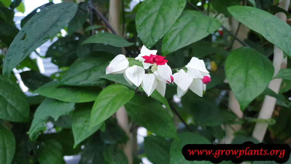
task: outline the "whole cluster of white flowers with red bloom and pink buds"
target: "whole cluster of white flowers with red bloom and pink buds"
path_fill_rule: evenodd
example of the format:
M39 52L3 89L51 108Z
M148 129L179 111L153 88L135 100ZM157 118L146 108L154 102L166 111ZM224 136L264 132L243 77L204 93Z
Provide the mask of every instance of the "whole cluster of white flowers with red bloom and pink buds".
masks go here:
M119 54L107 66L106 74L123 73L123 77L130 85L134 84L136 87L141 85L148 96L155 89L165 96L166 84L174 82L178 86L178 98L186 94L188 89L202 97L206 84L211 81L204 61L196 57L192 57L185 68L175 74L172 74L165 57L157 55L157 50L149 50L143 46L141 53L133 60L141 62L143 67L130 66L129 59Z

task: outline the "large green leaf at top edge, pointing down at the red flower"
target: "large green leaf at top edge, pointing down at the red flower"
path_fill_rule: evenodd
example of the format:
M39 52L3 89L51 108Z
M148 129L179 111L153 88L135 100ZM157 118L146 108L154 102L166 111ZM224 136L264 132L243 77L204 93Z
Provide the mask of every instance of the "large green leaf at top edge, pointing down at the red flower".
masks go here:
M136 30L143 44L152 47L172 27L181 15L184 0L147 0L136 13Z

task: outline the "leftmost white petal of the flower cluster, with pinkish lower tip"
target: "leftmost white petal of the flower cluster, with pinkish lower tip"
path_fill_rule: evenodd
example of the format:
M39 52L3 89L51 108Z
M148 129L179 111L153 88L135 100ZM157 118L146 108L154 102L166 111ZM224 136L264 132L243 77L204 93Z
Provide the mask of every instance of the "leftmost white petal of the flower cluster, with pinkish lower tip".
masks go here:
M128 67L128 60L122 54L117 55L107 66L106 74L109 73L124 73L125 69Z

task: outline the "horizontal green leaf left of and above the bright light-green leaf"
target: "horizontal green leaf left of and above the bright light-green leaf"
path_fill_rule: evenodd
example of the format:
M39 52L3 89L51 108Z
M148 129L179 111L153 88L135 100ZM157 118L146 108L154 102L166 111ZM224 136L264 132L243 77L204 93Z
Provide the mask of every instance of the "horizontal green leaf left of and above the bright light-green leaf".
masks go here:
M98 88L57 87L58 84L58 81L49 82L42 85L35 92L42 96L74 103L94 101L100 92Z

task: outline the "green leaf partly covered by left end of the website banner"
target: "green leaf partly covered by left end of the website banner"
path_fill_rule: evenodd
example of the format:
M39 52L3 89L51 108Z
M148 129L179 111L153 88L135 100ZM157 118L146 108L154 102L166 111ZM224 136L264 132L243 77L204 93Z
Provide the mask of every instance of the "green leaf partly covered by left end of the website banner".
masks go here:
M184 132L178 135L178 138L173 140L170 146L170 164L193 164L196 161L187 161L181 153L182 148L186 144L210 144L206 138L197 133ZM211 164L210 161L199 161L200 164Z

